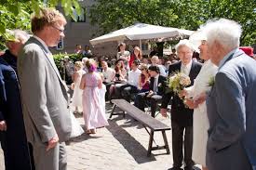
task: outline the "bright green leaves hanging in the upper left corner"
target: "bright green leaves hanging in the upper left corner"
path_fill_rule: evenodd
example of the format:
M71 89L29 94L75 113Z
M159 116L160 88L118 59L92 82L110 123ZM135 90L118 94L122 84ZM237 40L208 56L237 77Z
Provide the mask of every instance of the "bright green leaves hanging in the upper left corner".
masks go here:
M74 10L81 13L78 0L0 0L0 49L3 40L11 39L6 29L30 30L30 16L32 12L38 13L40 7L57 7L60 5L66 16L74 20Z

